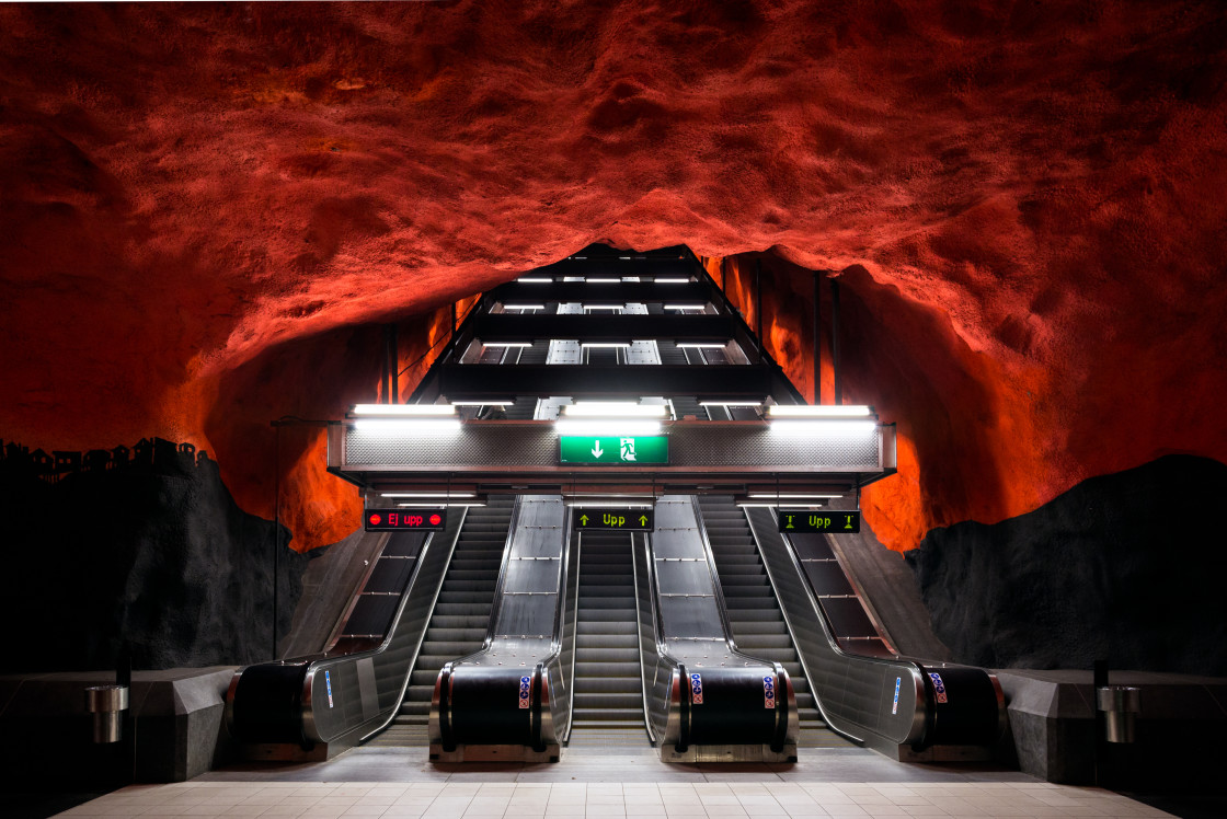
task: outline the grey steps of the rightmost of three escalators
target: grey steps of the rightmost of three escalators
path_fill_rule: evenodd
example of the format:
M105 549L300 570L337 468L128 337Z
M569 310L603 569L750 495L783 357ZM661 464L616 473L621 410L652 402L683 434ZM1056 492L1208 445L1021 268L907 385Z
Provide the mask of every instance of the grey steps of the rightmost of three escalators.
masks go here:
M852 748L822 721L745 512L720 495L699 497L698 504L734 641L748 655L780 663L793 680L801 723L798 745Z

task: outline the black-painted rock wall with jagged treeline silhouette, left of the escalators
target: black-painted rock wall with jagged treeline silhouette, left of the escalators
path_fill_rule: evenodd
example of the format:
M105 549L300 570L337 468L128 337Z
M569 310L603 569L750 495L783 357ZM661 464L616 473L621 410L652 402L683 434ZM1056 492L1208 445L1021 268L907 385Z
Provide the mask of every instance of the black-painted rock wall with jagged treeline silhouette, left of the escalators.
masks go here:
M0 671L113 668L123 642L137 669L271 658L274 524L215 462L156 443L156 460L60 476L0 460ZM282 546L279 563L283 636L307 558Z

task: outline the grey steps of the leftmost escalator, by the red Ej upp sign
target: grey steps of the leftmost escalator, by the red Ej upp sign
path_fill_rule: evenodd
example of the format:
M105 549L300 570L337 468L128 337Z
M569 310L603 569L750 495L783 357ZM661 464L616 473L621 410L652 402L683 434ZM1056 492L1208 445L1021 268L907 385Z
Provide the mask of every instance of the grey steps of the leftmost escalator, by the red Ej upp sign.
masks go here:
M425 745L434 680L443 663L481 649L512 522L514 495L469 509L409 689L393 723L372 745Z

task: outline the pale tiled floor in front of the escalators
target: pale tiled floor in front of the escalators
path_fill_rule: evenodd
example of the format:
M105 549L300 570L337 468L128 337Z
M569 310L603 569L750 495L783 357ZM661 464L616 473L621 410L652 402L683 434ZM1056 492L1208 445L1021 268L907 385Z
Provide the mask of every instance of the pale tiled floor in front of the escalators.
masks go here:
M664 765L654 752L568 753L557 765L432 765L421 748L328 763L237 766L131 786L79 817L1166 817L1098 788L1016 771L901 765L802 749L791 765Z

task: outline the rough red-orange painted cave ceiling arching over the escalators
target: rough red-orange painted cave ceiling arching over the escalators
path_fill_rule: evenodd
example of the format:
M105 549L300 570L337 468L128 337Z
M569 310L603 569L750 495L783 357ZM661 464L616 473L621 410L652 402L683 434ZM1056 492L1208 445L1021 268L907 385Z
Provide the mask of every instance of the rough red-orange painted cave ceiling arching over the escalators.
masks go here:
M805 385L839 272L893 548L1227 460L1225 42L1216 2L4 5L0 434L189 439L269 515L267 422L371 397L364 325L407 364L604 239L767 251ZM319 452L283 433L299 548L356 520Z

